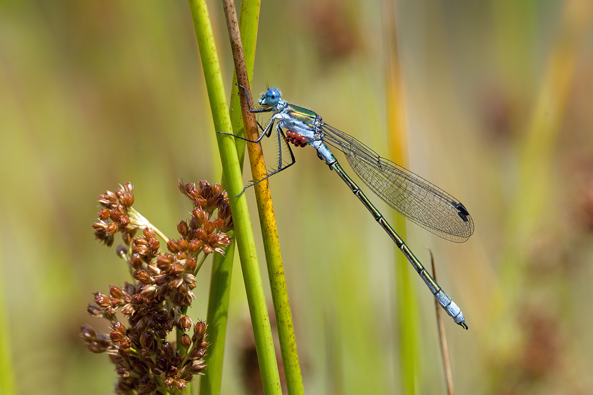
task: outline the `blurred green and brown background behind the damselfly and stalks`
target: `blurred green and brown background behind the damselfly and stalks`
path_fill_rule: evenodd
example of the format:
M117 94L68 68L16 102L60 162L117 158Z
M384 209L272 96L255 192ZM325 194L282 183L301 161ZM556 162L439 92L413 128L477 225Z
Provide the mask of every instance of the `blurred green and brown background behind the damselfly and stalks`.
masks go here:
M409 168L476 223L461 245L407 232L425 264L423 247L435 253L470 326L445 317L457 393L592 394L591 1L396 8ZM254 92L278 86L388 155L384 9L263 2ZM230 92L222 6L209 10ZM107 357L78 338L84 323L106 329L85 311L92 293L128 280L114 248L94 240L95 197L131 181L135 208L175 235L190 210L177 179L220 180L214 133L187 2L0 2L0 318L18 394L112 391ZM393 243L314 150L295 155L270 185L305 390L400 393ZM206 316L205 266L194 319ZM417 393L445 393L433 298L412 281ZM248 317L237 261L224 394L250 393Z

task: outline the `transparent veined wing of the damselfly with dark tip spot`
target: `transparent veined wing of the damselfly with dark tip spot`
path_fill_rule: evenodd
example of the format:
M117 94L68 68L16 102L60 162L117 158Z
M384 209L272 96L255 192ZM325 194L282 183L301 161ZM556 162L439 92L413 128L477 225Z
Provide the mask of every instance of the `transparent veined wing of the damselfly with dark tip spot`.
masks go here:
M404 217L456 243L465 242L474 233L470 214L447 192L381 158L354 137L327 124L321 129L325 133L324 142L342 151L362 182Z

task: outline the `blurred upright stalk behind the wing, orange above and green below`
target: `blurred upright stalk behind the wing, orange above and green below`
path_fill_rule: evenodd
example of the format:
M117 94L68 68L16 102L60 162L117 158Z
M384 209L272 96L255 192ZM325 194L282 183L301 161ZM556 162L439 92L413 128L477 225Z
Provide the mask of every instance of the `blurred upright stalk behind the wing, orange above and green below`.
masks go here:
M384 10L385 107L388 146L391 150L391 158L407 167L406 119L394 0L384 0ZM394 212L394 225L397 233L406 240L406 219L401 214ZM410 265L397 247L395 251L400 377L403 380L403 393L413 395L416 393L416 382L421 379L418 357L419 340L417 338L418 308L415 287L410 276Z

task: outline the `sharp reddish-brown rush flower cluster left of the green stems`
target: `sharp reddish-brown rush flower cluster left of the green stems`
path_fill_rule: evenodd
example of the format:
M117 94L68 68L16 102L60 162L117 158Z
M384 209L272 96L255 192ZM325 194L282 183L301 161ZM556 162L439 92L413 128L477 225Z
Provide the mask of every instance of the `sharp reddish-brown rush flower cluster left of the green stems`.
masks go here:
M91 316L110 320L109 335L84 325L81 336L91 352L110 355L119 374L117 394L173 394L206 368L202 360L208 347L206 324L194 324L186 311L195 298L195 276L206 256L224 253L231 242L225 233L232 229L231 211L220 185L180 181L179 187L193 201L194 210L189 224L178 224L178 240L162 235L132 208L129 182L115 193L107 191L98 197L103 207L93 224L95 237L110 246L114 235L122 233L124 243L117 246L117 255L127 262L133 281L124 287L111 286L109 295L95 293L94 304L88 306ZM217 218L211 219L214 211ZM134 237L137 232L141 235ZM161 251L157 235L169 252ZM118 313L127 317L127 326ZM192 327L190 336L185 332ZM180 349L167 341L173 329Z

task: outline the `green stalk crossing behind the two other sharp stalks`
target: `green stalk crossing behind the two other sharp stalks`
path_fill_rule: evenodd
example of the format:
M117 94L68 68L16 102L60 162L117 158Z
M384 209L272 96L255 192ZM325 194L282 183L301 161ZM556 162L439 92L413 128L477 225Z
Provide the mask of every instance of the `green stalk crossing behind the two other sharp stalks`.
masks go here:
M250 80L251 76L253 76L253 64L255 62L259 8L260 0L241 1L241 20L239 21L239 30L241 31L241 36L244 37L243 43L246 48L245 62ZM238 87L235 86L235 82L237 82L236 75L233 77L229 113L231 116L233 133L243 135L243 120L241 119L241 113L239 111ZM243 140L237 139L235 145L237 146L237 155L241 171L243 171L245 144ZM221 185L227 189L227 181L224 174L222 175ZM234 232L231 237L234 239ZM200 380L200 394L202 395L218 395L221 391L222 364L224 361L235 243L231 243L225 252L225 256L216 254L212 262L208 313L206 316L206 322L208 322L208 329L206 332L208 333L211 345L209 346L208 354L205 357L206 364L208 365L208 374L203 376L202 380Z

